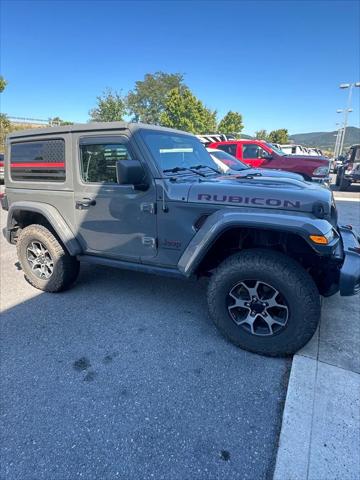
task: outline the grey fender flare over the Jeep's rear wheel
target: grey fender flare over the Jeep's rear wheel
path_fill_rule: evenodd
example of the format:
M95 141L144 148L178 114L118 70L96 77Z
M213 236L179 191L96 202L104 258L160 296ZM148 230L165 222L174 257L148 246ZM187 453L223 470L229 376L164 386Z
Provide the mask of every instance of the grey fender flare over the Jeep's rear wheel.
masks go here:
M6 227L9 241L13 238L11 232L36 223L50 227L70 255L82 253L80 243L60 212L52 205L40 202L15 202L10 206Z

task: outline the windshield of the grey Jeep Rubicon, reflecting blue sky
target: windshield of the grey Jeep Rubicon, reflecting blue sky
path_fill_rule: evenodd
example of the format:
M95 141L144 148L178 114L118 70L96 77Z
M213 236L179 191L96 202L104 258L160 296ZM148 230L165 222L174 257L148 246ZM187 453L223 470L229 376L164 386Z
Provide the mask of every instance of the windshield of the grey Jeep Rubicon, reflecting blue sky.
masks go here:
M141 133L162 172L199 165L219 171L219 167L196 137L151 130L143 130Z

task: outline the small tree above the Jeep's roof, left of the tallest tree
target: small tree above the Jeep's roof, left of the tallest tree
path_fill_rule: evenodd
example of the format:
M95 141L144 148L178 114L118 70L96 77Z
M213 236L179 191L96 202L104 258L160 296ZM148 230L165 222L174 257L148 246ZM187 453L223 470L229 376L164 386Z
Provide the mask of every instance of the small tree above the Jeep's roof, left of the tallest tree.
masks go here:
M126 106L120 93L107 88L102 96L96 99L97 106L89 111L91 122L114 122L123 119Z

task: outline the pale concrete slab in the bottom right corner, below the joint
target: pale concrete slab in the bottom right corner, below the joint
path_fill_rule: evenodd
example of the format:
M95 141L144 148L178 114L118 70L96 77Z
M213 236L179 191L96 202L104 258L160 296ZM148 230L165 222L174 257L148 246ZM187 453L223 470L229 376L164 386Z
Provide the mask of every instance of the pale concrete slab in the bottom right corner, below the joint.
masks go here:
M296 355L274 480L360 478L360 375Z

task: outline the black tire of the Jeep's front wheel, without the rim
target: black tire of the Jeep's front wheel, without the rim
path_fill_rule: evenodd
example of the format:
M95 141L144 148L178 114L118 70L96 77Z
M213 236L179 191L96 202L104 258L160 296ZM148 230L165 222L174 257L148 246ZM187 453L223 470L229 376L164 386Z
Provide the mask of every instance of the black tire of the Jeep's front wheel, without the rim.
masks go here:
M228 294L234 285L248 280L273 286L285 300L288 320L277 333L257 336L231 318ZM245 250L224 260L210 279L208 306L213 322L232 343L269 356L297 352L314 335L321 316L320 295L312 277L295 260L265 249Z

